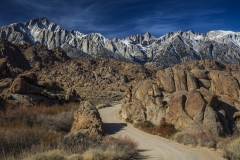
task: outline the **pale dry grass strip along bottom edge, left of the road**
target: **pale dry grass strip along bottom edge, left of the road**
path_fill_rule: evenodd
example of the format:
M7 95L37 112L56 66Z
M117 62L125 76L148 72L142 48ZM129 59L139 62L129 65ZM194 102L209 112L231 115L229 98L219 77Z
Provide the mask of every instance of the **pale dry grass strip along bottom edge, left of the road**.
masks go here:
M78 136L79 137L79 136ZM87 145L82 145L82 142L75 142L72 148L65 146L62 149L48 150L38 153L31 157L32 160L117 160L131 159L137 155L137 144L125 138L110 138L105 137L102 141L94 141L85 137ZM76 149L84 147L81 150ZM74 149L75 148L75 149ZM79 153L76 153L79 152Z

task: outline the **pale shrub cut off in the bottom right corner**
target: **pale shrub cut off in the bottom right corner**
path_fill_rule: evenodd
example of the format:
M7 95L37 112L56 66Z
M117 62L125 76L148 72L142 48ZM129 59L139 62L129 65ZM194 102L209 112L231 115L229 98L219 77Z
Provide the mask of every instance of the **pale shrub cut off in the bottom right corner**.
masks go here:
M226 156L231 160L240 160L240 137L228 144Z

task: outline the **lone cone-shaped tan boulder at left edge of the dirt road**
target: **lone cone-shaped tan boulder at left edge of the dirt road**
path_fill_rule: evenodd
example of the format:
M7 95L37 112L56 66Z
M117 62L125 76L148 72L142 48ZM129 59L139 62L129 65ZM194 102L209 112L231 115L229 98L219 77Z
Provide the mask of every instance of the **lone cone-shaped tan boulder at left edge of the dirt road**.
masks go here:
M103 135L103 123L95 106L89 101L83 102L74 113L74 122L69 134L82 133L89 137Z

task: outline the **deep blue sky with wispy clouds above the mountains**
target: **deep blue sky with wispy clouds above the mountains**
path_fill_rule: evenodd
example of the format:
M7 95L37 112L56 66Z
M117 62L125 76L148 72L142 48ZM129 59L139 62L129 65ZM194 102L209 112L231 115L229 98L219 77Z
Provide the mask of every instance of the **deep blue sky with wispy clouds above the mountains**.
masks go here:
M1 0L0 26L47 17L67 30L108 38L240 31L239 6L239 0Z

